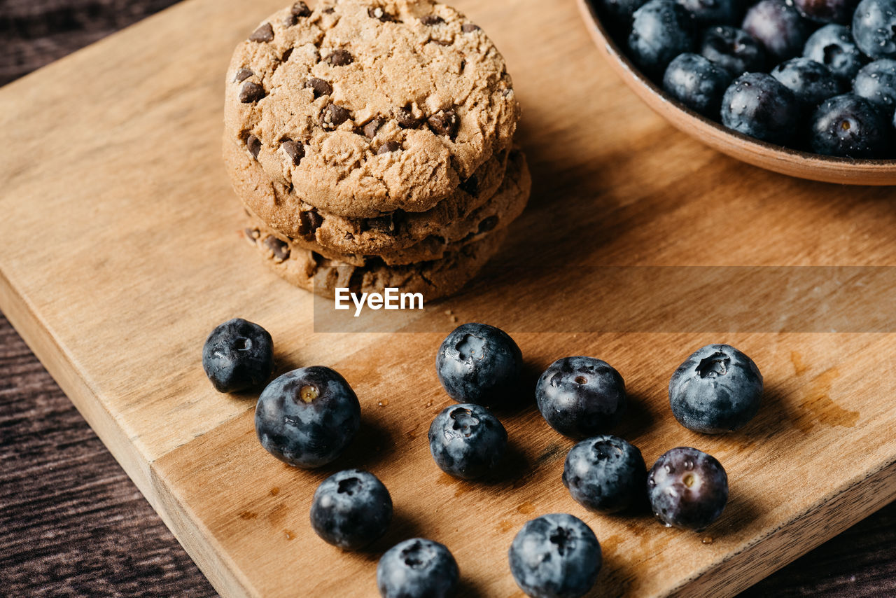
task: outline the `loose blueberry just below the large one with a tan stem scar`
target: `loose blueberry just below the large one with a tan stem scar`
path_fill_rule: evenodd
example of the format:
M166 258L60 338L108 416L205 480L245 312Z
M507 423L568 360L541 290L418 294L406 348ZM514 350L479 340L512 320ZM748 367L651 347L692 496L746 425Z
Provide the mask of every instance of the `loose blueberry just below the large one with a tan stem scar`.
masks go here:
M386 533L391 521L392 497L373 473L333 473L314 490L311 527L342 550L364 548Z

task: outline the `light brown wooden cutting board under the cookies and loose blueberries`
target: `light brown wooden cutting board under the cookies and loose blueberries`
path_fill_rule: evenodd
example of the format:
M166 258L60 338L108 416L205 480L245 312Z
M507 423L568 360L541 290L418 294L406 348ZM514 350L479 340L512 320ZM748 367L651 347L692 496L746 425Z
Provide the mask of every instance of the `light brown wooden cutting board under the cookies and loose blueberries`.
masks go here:
M602 543L593 595L726 596L896 498L893 334L576 333L556 302L592 266L892 266L891 188L773 175L676 133L599 59L573 0L458 0L503 50L524 108L535 189L495 261L513 275L430 306L440 332L314 333L311 297L240 239L219 155L230 50L282 2L188 0L0 90L0 308L221 594L375 595L379 553L423 535L452 549L463 595L520 596L513 534L564 511ZM658 297L673 291L661 280ZM761 288L744 294L769 312ZM433 369L448 309L507 326L531 372L569 354L614 364L633 403L619 433L649 463L680 445L716 455L724 516L697 534L586 512L560 483L573 443L530 405L500 413L513 459L497 480L439 472L426 429L450 403ZM254 396L205 379L202 342L237 315L271 331L280 371L325 364L357 390L363 428L333 467L271 458ZM681 428L666 399L707 342L753 356L767 386L760 416L721 438ZM349 466L380 476L396 509L357 554L307 523L317 483Z

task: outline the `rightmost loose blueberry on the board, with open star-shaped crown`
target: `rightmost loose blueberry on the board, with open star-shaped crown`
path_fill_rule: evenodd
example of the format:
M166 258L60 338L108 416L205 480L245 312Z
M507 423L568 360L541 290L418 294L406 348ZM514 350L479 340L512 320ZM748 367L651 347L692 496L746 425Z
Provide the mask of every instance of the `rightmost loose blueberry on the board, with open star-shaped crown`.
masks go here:
M669 380L669 405L678 423L720 434L743 428L762 402L762 374L741 351L708 344L694 351Z

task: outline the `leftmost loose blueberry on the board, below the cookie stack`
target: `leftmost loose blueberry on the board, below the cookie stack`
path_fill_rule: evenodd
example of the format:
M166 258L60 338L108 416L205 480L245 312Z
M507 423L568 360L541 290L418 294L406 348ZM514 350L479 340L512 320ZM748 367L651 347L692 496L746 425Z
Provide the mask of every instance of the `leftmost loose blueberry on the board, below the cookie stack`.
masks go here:
M202 368L219 393L261 386L274 370L271 334L241 317L228 320L205 339Z

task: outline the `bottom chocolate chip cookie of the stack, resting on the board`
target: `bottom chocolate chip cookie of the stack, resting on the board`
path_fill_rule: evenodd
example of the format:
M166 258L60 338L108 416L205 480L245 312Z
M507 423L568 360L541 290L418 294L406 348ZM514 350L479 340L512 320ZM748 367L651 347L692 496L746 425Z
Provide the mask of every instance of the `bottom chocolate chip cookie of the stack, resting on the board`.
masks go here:
M506 231L469 243L459 243L442 259L417 264L389 266L375 260L364 266L345 264L297 247L257 221L249 221L246 239L281 278L323 297L337 288L352 292L383 292L397 287L401 292L423 293L426 301L460 290L497 253Z

